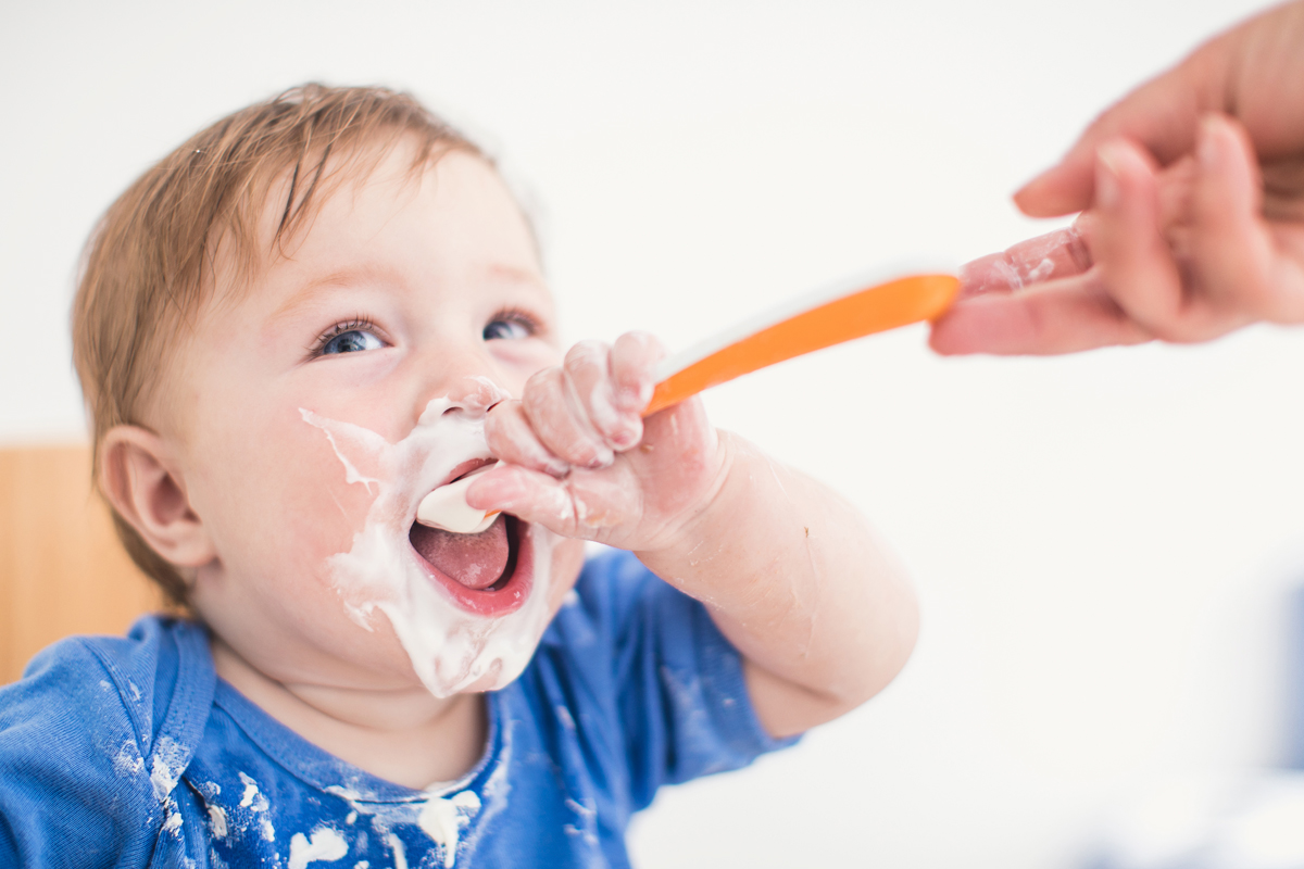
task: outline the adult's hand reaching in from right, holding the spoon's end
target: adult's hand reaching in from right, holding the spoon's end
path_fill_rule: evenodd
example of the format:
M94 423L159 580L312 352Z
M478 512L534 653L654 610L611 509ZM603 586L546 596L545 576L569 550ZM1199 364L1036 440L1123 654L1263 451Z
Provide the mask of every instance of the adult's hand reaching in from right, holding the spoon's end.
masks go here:
M1304 3L1198 48L1015 195L1071 229L977 259L940 353L1072 353L1304 323Z

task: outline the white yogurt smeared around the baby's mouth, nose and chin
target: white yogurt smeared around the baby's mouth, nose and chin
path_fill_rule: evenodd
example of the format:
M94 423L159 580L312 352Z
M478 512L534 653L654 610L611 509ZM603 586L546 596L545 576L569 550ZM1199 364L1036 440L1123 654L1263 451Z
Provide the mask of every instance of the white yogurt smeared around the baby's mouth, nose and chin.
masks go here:
M390 620L413 670L436 697L509 684L524 670L548 625L557 537L546 529L498 516L494 528L481 532L494 539L506 537L511 547L505 565L494 559L485 567L502 571L489 577L493 582L477 576L466 581L450 577L413 547L419 539L426 554L439 560L433 543L413 535L417 506L447 483L459 465L490 460L485 417L505 397L493 383L480 380L468 399L434 399L398 443L300 408L304 421L326 435L346 481L376 495L352 547L326 559L327 576L360 625L373 629L377 611ZM472 538L439 543L445 550L462 550L451 563L462 564L463 571L475 560L477 545L485 547Z

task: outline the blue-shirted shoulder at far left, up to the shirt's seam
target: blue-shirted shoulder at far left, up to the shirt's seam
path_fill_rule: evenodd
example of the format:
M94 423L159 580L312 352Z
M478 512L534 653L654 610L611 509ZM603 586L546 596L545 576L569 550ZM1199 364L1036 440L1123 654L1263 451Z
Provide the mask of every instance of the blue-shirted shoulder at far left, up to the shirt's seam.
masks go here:
M33 658L0 688L0 864L153 847L214 687L202 628L159 616Z

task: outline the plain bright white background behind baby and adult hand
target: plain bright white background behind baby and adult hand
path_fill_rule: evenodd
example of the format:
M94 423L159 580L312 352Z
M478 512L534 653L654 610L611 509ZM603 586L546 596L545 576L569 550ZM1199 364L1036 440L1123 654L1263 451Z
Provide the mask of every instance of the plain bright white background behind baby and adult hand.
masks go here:
M82 436L67 314L96 215L286 86L415 91L537 203L571 337L679 348L1045 231L1008 194L1260 5L5 0L0 443ZM1304 334L1267 328L1061 360L940 360L906 330L713 392L878 522L923 633L858 713L662 792L639 865L1071 866L1150 776L1277 761L1301 371Z

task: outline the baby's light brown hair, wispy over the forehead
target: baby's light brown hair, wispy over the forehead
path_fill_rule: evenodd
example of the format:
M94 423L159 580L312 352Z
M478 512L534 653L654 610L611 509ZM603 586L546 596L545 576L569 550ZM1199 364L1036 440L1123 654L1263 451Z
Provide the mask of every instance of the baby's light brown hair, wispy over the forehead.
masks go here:
M408 94L304 85L197 133L110 206L87 242L72 311L94 479L103 435L142 425L177 336L216 292L219 248L223 266L233 266L235 283L243 283L342 180L365 176L399 141L416 146L413 172L451 150L485 158ZM271 250L259 250L267 197L287 175ZM116 511L113 522L136 564L184 606L176 568Z

